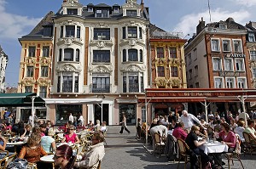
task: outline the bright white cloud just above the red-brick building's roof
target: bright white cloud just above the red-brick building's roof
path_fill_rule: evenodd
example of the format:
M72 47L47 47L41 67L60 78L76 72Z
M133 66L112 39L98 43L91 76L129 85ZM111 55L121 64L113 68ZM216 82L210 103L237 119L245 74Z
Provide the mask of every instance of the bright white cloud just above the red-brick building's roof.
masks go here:
M221 11L220 8L213 10L211 12L212 22L218 22L219 20L227 20L229 17L233 18L236 23L245 25L246 20L250 17L250 14L247 11L237 11L230 13L229 11ZM187 14L181 18L181 21L177 24L174 31L182 31L183 35L187 35L188 33L193 34L196 31L196 25L198 25L201 17L207 23L210 23L210 17L208 11L198 14Z

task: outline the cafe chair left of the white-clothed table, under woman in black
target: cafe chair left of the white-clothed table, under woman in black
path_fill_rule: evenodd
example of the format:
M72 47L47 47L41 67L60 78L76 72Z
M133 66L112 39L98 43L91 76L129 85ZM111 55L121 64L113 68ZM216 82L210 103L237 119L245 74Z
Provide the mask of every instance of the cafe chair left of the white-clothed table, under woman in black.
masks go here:
M186 142L184 142L183 139L181 138L177 138L177 146L178 146L178 163L177 163L177 169L179 166L180 161L182 161L182 159L184 159L184 168L187 168L187 163L190 162L190 149L189 149L189 145L186 144ZM200 155L197 156L197 161L198 164L200 166L201 169L201 157Z

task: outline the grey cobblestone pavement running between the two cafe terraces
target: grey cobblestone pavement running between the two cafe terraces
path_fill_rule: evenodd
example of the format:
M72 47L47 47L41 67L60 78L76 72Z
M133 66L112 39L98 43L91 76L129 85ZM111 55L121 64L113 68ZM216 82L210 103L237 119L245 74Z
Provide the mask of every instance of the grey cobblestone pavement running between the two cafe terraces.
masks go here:
M131 134L124 131L119 134L119 126L108 127L106 155L102 160L102 169L122 169L122 168L145 168L145 169L165 169L177 168L177 161L167 161L166 155L156 157L144 149L143 144L135 138L136 128L128 127ZM149 149L150 150L150 149ZM246 169L256 168L256 155L241 155L242 164ZM224 160L226 164L228 162ZM179 168L183 168L181 162ZM187 165L189 168L189 164ZM228 168L227 165L224 168ZM230 168L242 168L239 161L234 161L234 166Z

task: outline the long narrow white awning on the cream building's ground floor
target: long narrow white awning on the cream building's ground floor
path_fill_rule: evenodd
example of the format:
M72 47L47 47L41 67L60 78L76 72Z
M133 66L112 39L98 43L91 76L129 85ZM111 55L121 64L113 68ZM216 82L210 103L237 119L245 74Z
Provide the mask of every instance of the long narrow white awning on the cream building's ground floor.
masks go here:
M101 104L102 99L44 99L45 104Z

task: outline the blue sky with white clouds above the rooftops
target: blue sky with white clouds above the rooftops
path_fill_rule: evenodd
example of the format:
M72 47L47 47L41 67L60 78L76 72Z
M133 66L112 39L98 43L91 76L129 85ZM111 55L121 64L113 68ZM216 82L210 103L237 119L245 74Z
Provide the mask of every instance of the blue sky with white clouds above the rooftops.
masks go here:
M32 31L49 11L56 13L62 1L0 0L0 45L9 56L7 86L16 87L19 81L21 47L18 38ZM125 0L79 0L79 3L122 5ZM191 36L201 17L210 22L207 0L144 0L144 4L149 7L151 23L166 31L183 32L183 35L189 33ZM210 0L210 7L212 22L229 17L241 25L250 20L256 21L256 0Z

